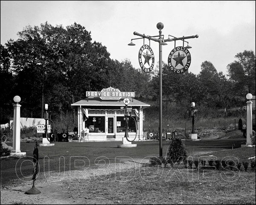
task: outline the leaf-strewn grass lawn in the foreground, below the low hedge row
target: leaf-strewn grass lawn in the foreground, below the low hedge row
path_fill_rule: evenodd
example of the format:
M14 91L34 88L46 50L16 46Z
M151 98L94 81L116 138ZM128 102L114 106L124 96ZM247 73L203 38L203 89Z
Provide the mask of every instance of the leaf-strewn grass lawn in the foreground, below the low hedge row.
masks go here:
M66 182L81 204L255 204L255 172L143 167Z

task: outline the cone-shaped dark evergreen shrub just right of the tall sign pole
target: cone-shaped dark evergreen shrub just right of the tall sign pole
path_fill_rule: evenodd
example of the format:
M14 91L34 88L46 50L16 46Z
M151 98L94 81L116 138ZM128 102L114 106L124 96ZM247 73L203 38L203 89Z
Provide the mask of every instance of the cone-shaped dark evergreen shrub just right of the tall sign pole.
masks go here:
M183 161L186 158L186 150L184 144L182 144L181 139L174 138L168 147L167 152L167 162L171 165L178 161Z

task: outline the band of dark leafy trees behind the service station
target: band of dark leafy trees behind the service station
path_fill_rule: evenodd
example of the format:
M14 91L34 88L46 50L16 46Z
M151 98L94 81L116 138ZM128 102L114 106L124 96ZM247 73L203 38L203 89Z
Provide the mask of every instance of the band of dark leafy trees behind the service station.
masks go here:
M21 116L34 118L44 117L44 104L58 118L86 91L107 87L135 92L137 99L159 106L157 68L150 74L128 59L111 59L107 48L92 42L91 33L76 22L66 28L48 22L26 26L18 36L1 44L1 124L13 115L15 95L21 97ZM255 54L244 50L235 58L227 65L227 76L209 61L202 62L198 75L175 74L163 62L163 106L191 101L225 110L241 106L248 92L255 95Z

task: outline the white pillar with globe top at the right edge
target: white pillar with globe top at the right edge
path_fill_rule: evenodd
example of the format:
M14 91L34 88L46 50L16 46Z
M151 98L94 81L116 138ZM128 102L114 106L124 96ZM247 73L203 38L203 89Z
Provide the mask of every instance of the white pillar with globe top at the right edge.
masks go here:
M252 113L252 104L251 99L253 95L248 93L246 95L247 98L247 115L246 115L246 145L252 145L252 141L250 139L250 135L253 133L253 113Z

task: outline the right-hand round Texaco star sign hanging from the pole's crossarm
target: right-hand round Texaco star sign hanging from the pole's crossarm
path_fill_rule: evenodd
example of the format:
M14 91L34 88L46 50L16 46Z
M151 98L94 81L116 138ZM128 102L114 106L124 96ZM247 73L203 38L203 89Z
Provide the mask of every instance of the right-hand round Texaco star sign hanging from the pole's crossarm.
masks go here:
M178 46L168 56L168 66L175 73L183 73L189 69L191 55L188 49Z

